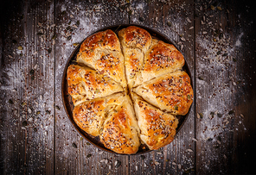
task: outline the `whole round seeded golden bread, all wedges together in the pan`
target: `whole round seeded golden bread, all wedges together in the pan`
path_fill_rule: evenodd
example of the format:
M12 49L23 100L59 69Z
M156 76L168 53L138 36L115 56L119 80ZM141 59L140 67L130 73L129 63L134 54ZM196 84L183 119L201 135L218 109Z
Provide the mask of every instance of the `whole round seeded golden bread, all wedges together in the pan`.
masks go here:
M193 102L182 53L130 26L92 34L67 68L74 122L116 153L158 149L174 140ZM129 88L126 88L126 87ZM132 98L132 100L131 100Z

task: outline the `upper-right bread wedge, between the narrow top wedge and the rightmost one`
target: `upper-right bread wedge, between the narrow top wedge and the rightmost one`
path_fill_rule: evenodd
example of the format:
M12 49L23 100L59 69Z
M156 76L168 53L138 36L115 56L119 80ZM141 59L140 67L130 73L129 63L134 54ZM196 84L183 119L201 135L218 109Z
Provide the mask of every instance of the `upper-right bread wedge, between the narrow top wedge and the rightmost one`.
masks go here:
M163 41L152 40L144 56L144 67L135 86L152 78L182 69L185 60L176 47Z

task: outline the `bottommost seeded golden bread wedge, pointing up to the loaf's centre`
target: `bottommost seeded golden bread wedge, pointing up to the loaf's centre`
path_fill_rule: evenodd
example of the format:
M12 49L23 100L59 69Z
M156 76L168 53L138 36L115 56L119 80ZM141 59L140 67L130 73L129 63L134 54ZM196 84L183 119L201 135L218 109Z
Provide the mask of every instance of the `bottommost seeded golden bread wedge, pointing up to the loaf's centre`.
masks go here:
M113 109L107 116L100 141L116 153L132 154L138 152L138 123L134 117L130 97L125 103Z

